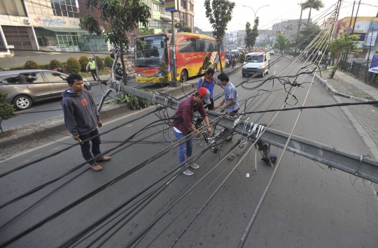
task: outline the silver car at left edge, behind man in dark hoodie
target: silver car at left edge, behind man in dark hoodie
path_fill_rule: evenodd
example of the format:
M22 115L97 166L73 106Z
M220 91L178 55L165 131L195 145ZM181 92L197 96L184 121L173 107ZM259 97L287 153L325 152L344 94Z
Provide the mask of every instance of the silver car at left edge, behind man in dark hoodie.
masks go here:
M30 108L31 103L62 97L69 89L68 75L48 70L18 70L0 72L0 92L8 93L5 101L18 110ZM92 85L84 80L87 91Z

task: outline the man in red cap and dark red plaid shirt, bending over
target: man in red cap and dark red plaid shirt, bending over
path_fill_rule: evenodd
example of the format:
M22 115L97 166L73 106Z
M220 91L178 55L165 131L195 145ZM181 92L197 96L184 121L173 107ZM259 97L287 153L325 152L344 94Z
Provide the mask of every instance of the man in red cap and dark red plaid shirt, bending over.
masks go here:
M205 87L200 87L194 95L180 103L174 115L174 117L177 118L174 122L174 134L177 140L185 138L189 133L196 133L196 138L201 137L201 132L195 129L195 126L192 124L195 111L200 112L202 119L204 119L204 122L208 126L207 133L211 133L209 118L204 109L204 102L210 104L210 92ZM179 146L179 164L185 161L185 154L186 158L192 156L192 151L193 138L190 138ZM197 163L192 163L190 166L193 169L200 168ZM184 170L183 173L185 175L193 175L193 172L189 169Z

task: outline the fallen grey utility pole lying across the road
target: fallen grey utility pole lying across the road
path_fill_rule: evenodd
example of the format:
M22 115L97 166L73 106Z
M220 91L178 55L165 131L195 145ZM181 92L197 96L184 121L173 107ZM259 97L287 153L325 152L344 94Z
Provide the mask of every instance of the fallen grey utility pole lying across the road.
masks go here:
M170 97L166 98L165 96L142 92L138 89L121 85L115 85L115 87L118 91L127 92L135 96L148 99L174 110L176 110L179 105L179 101L176 101ZM214 111L209 111L208 115L209 120L213 120L221 114ZM223 118L220 122L218 122L218 125L231 129L232 126L234 126L234 122L234 119ZM241 120L235 131L241 133L242 135L252 134L253 137L257 137L263 131L263 129L266 129L266 127L260 124ZM283 148L288 140L288 136L288 133L268 128L265 133L262 134L260 139L270 145ZM337 168L338 170L342 170L346 173L378 183L378 161L369 159L366 156L344 152L336 149L335 147L317 143L312 140L307 140L299 136L292 136L287 150L289 152L307 157L308 159L323 163L326 166Z

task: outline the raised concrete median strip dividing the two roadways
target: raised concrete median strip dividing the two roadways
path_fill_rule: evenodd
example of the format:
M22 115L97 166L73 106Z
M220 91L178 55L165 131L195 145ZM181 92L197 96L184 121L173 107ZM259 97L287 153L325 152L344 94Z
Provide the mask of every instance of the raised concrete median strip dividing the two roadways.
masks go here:
M228 73L228 70L232 69L225 69L224 72ZM234 68L234 70L230 74L235 74L239 71L241 71L241 66L239 66L239 68ZM219 72L217 73L219 74ZM181 87L165 87L162 89L162 93L176 97L191 94L195 91L195 89L197 89L198 80L198 78L195 78L193 80L184 82L183 84L181 83ZM101 119L104 121L106 119L110 119L132 111L135 110L130 110L130 108L127 107L126 103L118 105L104 104L99 114L101 116ZM18 133L13 136L1 138L0 149L4 149L6 147L9 148L12 145L20 145L21 143L25 143L31 140L42 140L43 138L45 138L45 136L48 136L50 134L66 133L69 136L66 126L64 125L63 115L49 119L43 119L39 122L25 124L23 126L17 126L13 129L9 129L9 131L12 130L17 131ZM47 134L45 133L46 131L48 132Z

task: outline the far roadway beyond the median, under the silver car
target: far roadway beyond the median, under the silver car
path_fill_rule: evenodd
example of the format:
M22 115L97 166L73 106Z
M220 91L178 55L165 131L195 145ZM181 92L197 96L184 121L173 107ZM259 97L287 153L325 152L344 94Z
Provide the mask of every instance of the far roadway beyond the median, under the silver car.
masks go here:
M135 79L132 79L132 81L130 82L130 87L137 87L137 86L141 86L141 85L137 84ZM155 86L142 85L142 87L155 87ZM106 85L103 86L103 89L106 90ZM97 85L97 86L92 87L92 91L90 92L90 94L93 96L94 101L96 103L99 103L102 99L102 94L104 94L104 92L102 91L101 86ZM117 92L112 92L110 95L116 96L118 94L119 93ZM15 126L22 126L22 125L29 124L32 122L41 121L43 119L48 119L48 118L56 117L58 115L63 115L62 106L60 105L61 101L62 99L59 98L59 99L52 99L52 100L46 100L46 101L33 103L33 105L31 105L31 108L27 110L16 111L16 112L20 112L21 115L13 119L8 119L6 121L3 121L1 123L1 126L3 126L3 130L6 131ZM48 110L57 110L57 111L43 112L43 111L48 111ZM27 112L38 112L38 114L36 113L27 114Z

